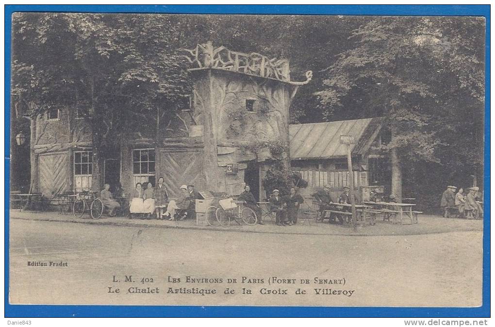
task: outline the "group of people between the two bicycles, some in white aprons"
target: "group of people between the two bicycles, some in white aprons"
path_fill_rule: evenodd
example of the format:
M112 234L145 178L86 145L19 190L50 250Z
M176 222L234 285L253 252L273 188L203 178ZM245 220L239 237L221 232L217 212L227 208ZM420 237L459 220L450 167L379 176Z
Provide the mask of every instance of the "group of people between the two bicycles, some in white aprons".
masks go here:
M183 220L187 217L195 218L196 199L201 198L199 193L194 189L194 185L183 185L180 187L180 193L177 199L169 200L168 191L163 183L163 177L158 179L155 187L151 183L136 183L136 188L129 197L129 215L130 218L142 215L144 218L150 218L156 213L156 219ZM101 201L108 210L109 216L114 216L115 212L120 209L121 205L117 202L110 192L110 185L105 184L101 191Z

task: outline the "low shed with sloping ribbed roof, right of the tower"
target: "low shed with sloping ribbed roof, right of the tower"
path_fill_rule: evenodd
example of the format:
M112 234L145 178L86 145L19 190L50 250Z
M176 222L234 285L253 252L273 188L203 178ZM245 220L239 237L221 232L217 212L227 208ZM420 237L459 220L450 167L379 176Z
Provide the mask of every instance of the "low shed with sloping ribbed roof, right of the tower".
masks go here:
M330 185L333 198L338 199L343 187L349 186L347 145L340 142L340 136L350 135L355 140L351 144L352 178L359 198L368 186L383 186L390 193L388 158L373 151L387 141L382 122L377 117L290 125L291 166L308 182L303 192L309 195Z

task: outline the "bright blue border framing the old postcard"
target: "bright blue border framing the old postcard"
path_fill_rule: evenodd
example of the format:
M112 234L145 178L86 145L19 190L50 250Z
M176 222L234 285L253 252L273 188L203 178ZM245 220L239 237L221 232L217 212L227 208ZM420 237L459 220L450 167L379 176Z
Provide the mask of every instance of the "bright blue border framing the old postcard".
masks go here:
M478 308L69 306L8 303L10 34L15 11L211 14L484 16L485 217L490 217L490 5L5 5L5 317L490 317L490 219L484 220L483 306Z

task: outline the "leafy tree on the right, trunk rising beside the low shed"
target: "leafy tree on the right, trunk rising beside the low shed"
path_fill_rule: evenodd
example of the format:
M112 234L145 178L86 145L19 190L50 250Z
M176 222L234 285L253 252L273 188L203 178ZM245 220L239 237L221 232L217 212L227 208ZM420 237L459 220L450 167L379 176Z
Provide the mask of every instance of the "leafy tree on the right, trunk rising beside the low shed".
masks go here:
M360 107L354 118L386 117L394 193L400 197L406 163L433 162L449 170L482 165L483 19L380 17L354 30L351 39L356 47L328 67L316 94L332 108L327 116Z

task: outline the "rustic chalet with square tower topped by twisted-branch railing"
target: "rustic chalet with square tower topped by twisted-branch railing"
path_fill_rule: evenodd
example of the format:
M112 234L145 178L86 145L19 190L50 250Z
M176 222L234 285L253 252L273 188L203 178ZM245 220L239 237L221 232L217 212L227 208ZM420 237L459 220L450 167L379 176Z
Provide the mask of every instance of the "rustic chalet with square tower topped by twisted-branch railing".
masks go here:
M294 82L287 60L211 43L185 51L194 81L190 108L167 120L157 108L148 131L124 135L105 153L104 182L128 191L163 177L171 196L183 184L240 194L248 183L256 196L263 194L260 180L269 162L289 160L289 106L312 73ZM32 121L32 191L91 189L92 138L84 115L78 108L53 108Z

